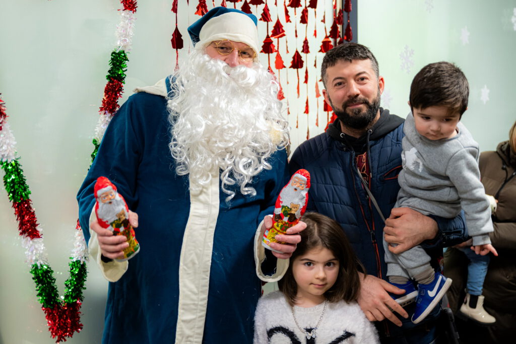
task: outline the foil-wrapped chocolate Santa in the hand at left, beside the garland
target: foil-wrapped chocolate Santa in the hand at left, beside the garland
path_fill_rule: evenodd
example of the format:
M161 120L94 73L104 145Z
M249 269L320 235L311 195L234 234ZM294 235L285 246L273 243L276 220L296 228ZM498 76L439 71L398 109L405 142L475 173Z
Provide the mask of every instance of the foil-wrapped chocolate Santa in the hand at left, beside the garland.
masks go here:
M106 177L99 177L93 189L96 203L95 215L99 224L114 235L124 235L129 246L124 249L124 255L115 259L124 261L134 257L140 250L136 241L133 226L129 223L129 208L124 198L117 192L117 187Z

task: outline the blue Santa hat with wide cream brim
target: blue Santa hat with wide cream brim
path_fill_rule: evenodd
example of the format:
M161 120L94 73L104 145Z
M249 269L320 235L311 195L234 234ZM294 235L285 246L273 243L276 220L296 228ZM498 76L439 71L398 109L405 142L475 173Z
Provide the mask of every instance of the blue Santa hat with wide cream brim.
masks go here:
M259 53L257 20L254 14L248 14L233 8L215 7L204 14L198 21L188 27L188 34L193 46L205 47L207 44L228 39L242 42Z

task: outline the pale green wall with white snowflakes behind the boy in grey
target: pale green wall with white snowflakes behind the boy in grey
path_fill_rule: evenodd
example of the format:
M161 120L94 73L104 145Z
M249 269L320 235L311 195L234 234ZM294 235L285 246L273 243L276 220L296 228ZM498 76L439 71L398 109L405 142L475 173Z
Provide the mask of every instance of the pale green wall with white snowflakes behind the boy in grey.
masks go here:
M391 112L407 116L410 83L421 68L450 61L469 80L469 109L462 122L480 150L494 150L507 140L516 120L514 8L513 0L360 0L358 42L368 46L380 64ZM470 32L467 44L461 41L464 27ZM409 73L400 68L405 46L414 51ZM480 100L484 85L489 89L485 104Z

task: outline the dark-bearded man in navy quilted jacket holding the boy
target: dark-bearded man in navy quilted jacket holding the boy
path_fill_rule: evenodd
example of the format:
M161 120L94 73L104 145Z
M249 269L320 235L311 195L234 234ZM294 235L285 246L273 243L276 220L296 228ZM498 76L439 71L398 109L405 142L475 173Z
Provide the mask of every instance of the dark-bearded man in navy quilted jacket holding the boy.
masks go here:
M336 220L349 238L367 272L361 274L358 303L370 321L377 321L382 344L434 343L438 330L444 330L443 325L437 326L440 307L424 322L410 321L414 303L402 308L389 293L405 290L383 280L387 266L382 236L385 233L393 253L421 244L437 267L442 246L466 238L464 218L443 219L393 208L399 191L404 119L380 107L385 81L366 46L345 43L328 51L321 77L322 93L337 120L326 133L300 144L289 164L291 171L310 172L307 211Z

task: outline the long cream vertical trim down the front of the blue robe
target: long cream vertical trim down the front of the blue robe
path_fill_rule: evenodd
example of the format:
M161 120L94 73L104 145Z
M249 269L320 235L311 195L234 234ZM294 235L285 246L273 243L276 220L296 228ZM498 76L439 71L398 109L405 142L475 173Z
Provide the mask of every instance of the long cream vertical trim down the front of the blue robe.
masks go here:
M191 184L191 181L190 181ZM190 191L190 214L179 261L176 343L200 343L208 305L213 236L219 215L218 169L198 194Z

